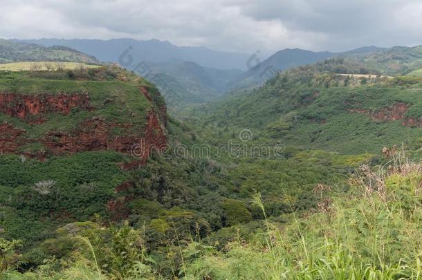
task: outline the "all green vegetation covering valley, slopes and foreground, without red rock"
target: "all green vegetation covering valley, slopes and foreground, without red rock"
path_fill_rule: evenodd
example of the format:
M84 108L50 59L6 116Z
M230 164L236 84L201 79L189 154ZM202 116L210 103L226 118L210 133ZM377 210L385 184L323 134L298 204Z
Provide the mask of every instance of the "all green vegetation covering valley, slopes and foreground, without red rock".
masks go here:
M419 279L422 81L339 75L371 67L329 59L192 106L134 169L117 151L24 156L36 141L0 155L1 277ZM0 114L34 139L93 118L143 131L165 105L113 66L3 72L0 91L89 94L95 110L42 123Z

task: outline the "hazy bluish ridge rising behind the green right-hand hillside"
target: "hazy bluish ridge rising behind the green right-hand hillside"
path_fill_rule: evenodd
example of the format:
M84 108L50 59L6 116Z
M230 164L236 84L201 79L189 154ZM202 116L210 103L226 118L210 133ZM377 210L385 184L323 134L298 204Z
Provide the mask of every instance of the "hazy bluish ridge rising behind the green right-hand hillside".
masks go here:
M306 64L314 64L330 57L345 59L349 64L360 65L360 69L354 72L360 74L366 74L365 71L369 71L372 74L379 73L389 76L406 75L422 68L421 46L396 46L393 48L367 46L341 53L285 49L278 51L262 62L258 61L259 63L257 63L252 61L251 64L253 67L246 71L244 75L233 80L230 86L232 89L239 89L264 84L266 80L274 77L279 71L285 71L288 68L295 68ZM366 69L364 71L365 73L362 73L364 69ZM342 72L338 71L336 73Z

